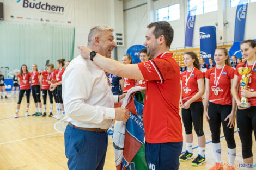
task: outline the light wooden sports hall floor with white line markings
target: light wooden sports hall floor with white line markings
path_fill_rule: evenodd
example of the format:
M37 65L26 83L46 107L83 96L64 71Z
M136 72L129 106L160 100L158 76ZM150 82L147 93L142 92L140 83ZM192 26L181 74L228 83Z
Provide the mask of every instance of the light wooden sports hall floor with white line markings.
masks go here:
M65 149L64 149L64 130L65 122L57 121L52 117L25 117L26 98L22 99L19 118L15 119L17 97L8 99L0 99L0 169L20 170L20 169L68 169L66 165ZM47 110L50 109L50 102L47 100ZM56 112L55 104L53 106L53 115ZM35 112L34 101L31 96L31 106L29 114ZM205 121L205 119L204 119ZM237 128L235 127L235 131ZM206 136L206 163L200 167L190 165L192 160L180 162L180 168L183 169L209 169L214 163L214 155L211 147L211 133L209 125L204 122L204 132ZM185 132L183 133L185 134ZM193 147L197 146L197 137L194 135ZM223 133L221 133L223 136ZM238 133L234 134L236 141L236 160L235 165L238 166L242 161L241 142ZM184 136L185 139L185 136ZM221 138L222 143L222 162L224 166L228 163L227 144L225 138ZM185 146L185 142L184 142ZM194 156L198 153L198 149L193 150ZM254 164L256 163L256 142L253 136L253 153ZM170 153L171 154L171 153ZM114 150L112 138L109 138L108 150L105 161L105 170L114 170ZM225 168L224 168L225 169ZM243 169L236 167L236 169ZM256 168L255 168L256 169ZM137 169L138 170L138 169Z

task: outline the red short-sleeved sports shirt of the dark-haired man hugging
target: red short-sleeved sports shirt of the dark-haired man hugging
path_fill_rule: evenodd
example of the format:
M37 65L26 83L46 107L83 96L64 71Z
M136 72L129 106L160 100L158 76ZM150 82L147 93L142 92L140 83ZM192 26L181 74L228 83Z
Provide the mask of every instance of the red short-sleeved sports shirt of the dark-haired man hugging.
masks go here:
M183 141L179 115L180 68L172 55L163 53L138 64L144 79L148 80L143 110L148 143Z

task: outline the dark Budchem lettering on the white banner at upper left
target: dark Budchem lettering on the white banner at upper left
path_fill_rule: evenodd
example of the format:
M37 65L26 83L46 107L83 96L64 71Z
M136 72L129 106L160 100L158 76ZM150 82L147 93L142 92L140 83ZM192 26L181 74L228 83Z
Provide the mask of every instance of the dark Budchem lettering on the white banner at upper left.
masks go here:
M21 0L18 0L17 3L19 3ZM56 6L56 5L50 5L48 2L45 4L39 1L38 3L33 0L32 2L29 0L23 0L22 4L23 8L36 8L36 9L42 9L42 10L48 10L48 11L56 11L56 12L64 12L64 7Z

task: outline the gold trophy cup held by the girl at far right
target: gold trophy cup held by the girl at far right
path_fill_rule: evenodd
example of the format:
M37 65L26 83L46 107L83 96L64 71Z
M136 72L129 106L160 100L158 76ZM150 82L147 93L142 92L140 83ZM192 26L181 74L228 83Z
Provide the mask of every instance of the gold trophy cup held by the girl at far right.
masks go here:
M251 73L251 70L252 70L252 68L247 68L247 67L238 68L239 74L242 75L240 85L241 85L243 90L247 90L247 85L248 85L248 81L249 81L248 74ZM246 97L242 97L241 102L239 103L239 106L241 108L249 108L250 103L248 103L248 99Z

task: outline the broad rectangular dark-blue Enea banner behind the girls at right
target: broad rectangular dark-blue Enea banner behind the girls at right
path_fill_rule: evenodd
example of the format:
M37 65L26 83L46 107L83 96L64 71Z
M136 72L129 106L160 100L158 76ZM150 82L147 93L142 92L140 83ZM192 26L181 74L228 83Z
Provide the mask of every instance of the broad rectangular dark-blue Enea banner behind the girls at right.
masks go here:
M206 64L209 64L209 58L214 58L214 52L217 48L216 27L205 26L200 28L200 55L204 58Z

